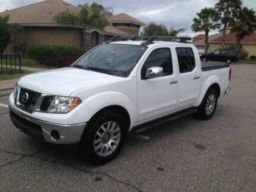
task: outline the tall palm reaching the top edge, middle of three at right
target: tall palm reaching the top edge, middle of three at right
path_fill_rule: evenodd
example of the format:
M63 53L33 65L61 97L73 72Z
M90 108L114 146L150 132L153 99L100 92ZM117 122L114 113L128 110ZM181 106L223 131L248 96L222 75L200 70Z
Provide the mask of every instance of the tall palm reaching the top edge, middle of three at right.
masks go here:
M222 13L221 23L224 24L221 49L224 47L227 24L232 25L234 17L238 14L241 7L241 0L219 0L219 2L215 4L215 10Z

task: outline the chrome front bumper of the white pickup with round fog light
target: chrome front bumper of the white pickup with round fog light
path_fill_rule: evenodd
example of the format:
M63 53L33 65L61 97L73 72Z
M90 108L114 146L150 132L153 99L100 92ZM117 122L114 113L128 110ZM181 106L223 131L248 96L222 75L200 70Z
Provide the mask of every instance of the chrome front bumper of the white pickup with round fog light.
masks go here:
M77 124L56 124L33 118L14 109L9 104L10 117L13 124L20 131L37 138L43 138L47 142L56 144L72 144L81 140L82 133L86 127L86 122ZM59 138L53 133L59 133ZM54 139L55 138L55 139Z

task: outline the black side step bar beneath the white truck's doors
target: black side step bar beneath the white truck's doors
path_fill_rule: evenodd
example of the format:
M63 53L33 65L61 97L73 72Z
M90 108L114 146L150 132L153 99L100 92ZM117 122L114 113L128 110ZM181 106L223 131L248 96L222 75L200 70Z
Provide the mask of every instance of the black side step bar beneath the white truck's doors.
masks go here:
M178 118L181 118L181 117L184 117L184 116L187 116L187 115L190 115L190 114L193 114L193 113L196 113L197 112L197 109L195 108L190 108L188 110L185 110L185 111L181 111L179 113L176 113L176 114L173 114L173 115L169 115L167 117L163 117L161 119L158 119L158 120L155 120L155 121L152 121L152 122L148 122L146 124L143 124L143 125L140 125L140 126L137 126L135 127L131 133L133 134L139 134L141 132L144 132L146 130L150 130L150 129L153 129L154 127L158 126L158 125L161 125L163 123L166 123L168 121L172 121L172 120L175 120L175 119L178 119Z

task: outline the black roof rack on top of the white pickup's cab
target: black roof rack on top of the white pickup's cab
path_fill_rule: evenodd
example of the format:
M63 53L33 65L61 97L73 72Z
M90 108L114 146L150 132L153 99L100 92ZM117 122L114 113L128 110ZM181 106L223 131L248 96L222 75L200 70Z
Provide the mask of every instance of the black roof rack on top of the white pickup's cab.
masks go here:
M189 43L187 40L191 40L191 37L174 37L174 36L120 36L116 35L112 37L110 40L106 41L106 43L110 43L117 40L146 40L143 41L140 45L147 46L150 44L154 44L153 40L169 40L169 41L176 41L176 42L183 42Z

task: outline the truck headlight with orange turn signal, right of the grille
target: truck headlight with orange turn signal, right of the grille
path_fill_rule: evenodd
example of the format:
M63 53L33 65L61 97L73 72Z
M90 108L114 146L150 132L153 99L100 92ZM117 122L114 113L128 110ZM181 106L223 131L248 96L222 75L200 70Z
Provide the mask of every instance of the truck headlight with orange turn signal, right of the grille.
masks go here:
M78 97L55 96L52 100L47 113L68 113L82 101Z

